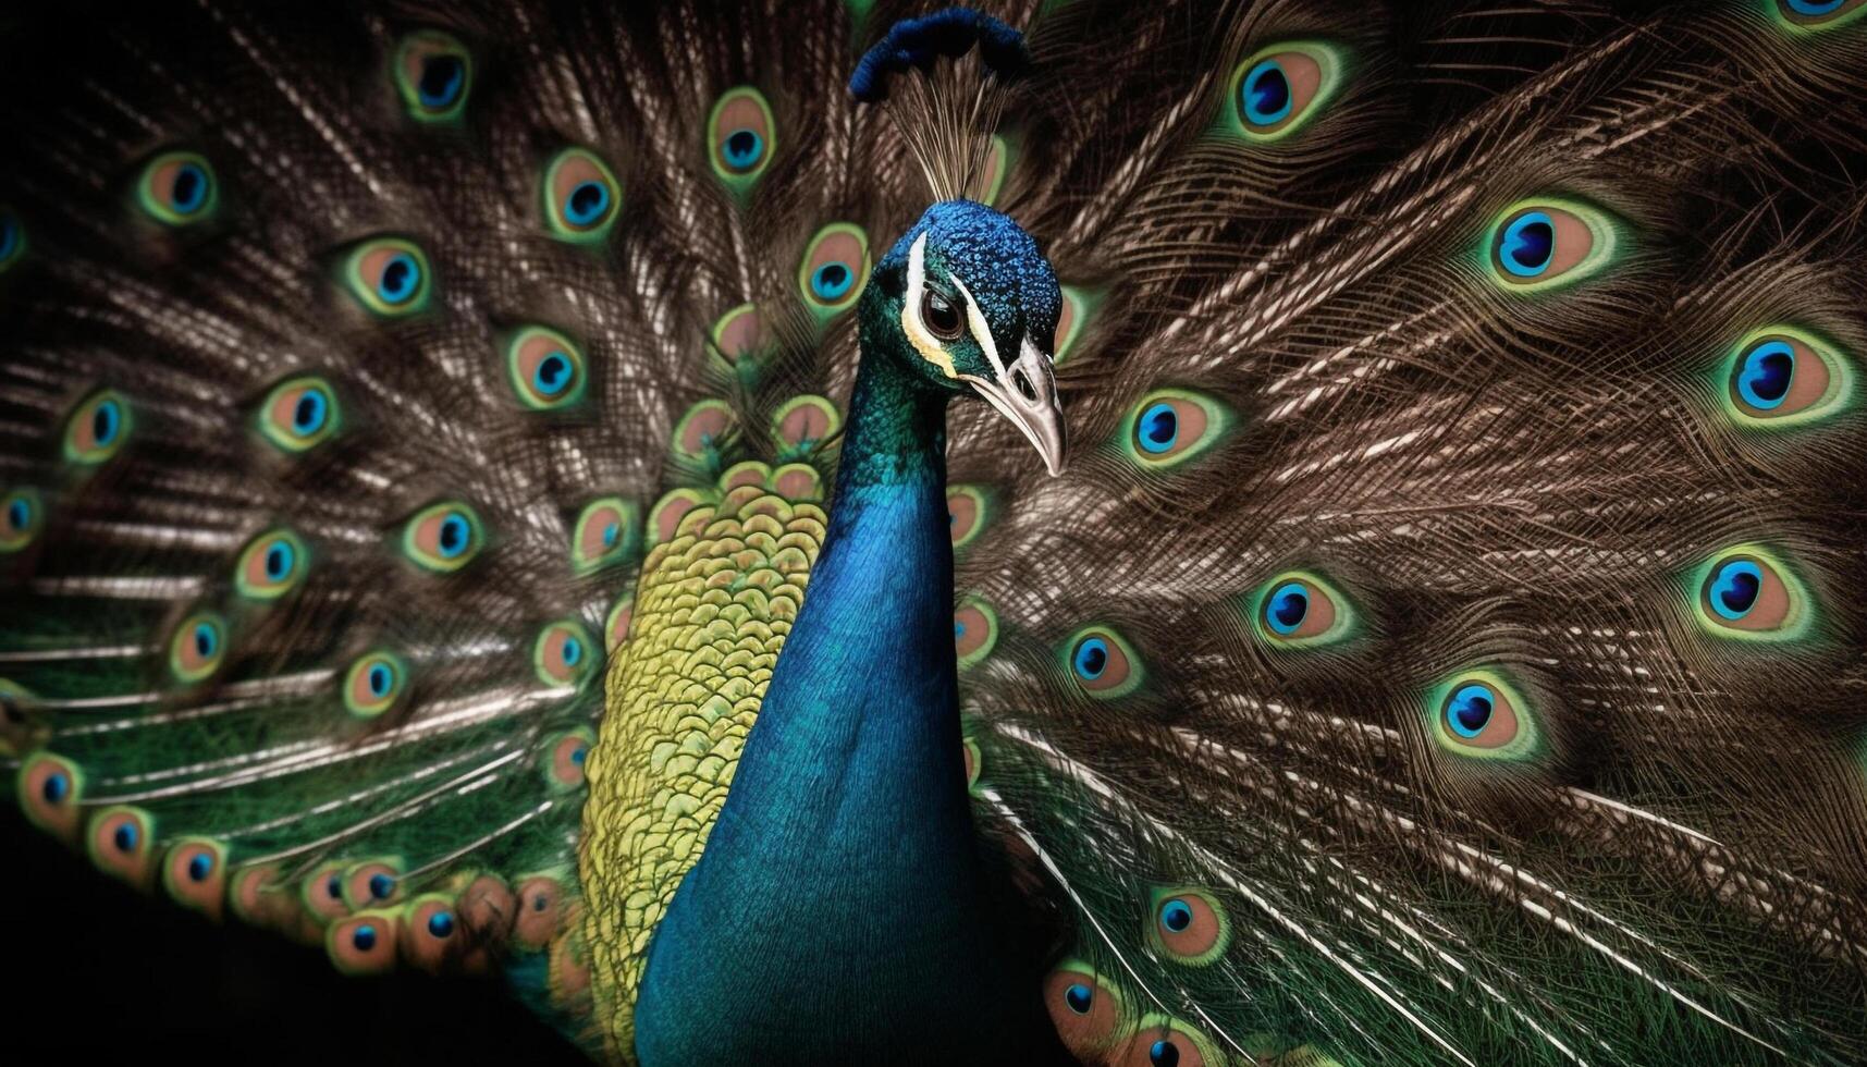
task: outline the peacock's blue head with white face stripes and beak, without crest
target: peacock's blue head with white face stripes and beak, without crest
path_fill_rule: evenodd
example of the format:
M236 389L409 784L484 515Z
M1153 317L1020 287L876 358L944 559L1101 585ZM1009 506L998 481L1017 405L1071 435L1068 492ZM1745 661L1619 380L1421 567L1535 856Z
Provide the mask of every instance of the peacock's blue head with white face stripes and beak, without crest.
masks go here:
M1059 475L1059 314L1057 275L1031 234L984 204L945 200L876 267L861 303L863 346L892 353L922 387L982 396Z

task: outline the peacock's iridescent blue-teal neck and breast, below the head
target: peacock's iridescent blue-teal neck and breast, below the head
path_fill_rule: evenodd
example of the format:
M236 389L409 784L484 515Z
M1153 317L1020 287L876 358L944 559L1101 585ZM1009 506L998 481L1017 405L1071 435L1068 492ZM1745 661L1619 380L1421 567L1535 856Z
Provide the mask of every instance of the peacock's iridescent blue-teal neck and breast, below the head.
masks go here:
M1001 959L975 854L948 394L874 351L876 334L805 605L650 947L635 1015L646 1063L1057 1056L1034 975Z

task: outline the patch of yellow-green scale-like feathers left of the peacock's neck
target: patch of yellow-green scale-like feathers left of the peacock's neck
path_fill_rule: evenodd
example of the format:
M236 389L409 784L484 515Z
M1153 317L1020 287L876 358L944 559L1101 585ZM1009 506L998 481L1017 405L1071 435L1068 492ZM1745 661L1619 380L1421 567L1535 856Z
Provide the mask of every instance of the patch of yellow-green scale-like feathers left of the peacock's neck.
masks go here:
M726 804L825 523L814 503L739 486L683 516L642 566L605 680L579 848L611 1056L633 1052L650 940Z

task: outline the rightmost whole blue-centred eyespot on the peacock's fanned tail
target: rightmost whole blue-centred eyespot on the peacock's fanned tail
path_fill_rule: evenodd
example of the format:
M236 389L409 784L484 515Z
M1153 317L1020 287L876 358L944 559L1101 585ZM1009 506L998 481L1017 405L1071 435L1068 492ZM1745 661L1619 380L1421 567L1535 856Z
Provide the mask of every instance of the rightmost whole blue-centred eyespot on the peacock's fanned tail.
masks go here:
M1727 361L1725 400L1744 426L1783 428L1839 411L1854 392L1852 364L1792 327L1744 338Z

